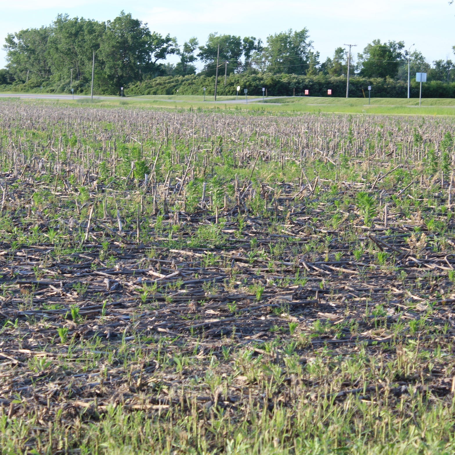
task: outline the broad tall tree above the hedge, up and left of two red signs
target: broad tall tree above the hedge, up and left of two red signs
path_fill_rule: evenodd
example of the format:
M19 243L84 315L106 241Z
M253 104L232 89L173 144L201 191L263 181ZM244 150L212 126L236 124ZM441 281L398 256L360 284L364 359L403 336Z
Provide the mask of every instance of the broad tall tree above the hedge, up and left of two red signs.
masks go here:
M306 28L269 35L263 51L265 69L275 74L306 74L312 44Z

